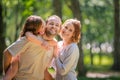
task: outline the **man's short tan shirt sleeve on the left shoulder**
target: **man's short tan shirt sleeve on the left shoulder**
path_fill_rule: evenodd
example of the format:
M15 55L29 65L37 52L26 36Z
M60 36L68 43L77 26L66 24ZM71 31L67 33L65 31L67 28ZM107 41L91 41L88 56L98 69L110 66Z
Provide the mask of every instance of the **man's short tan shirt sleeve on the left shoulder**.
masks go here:
M28 43L27 39L25 37L22 37L13 44L11 44L7 49L12 56L15 56L19 54L22 50L25 50L27 43Z

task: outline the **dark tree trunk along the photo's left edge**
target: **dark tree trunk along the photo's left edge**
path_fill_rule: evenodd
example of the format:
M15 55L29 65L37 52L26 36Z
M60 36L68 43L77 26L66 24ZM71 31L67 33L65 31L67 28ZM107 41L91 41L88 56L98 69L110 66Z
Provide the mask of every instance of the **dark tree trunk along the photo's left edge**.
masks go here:
M6 48L6 44L5 44L6 26L3 23L3 14L2 13L3 13L2 1L0 0L0 74L2 73L3 50Z

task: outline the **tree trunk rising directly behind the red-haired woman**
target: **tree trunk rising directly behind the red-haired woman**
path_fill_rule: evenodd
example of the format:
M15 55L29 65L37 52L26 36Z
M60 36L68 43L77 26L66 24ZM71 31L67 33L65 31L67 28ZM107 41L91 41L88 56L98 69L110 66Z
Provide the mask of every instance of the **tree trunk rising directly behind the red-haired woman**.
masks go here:
M65 0L65 1L68 7L72 10L74 18L77 18L78 20L82 21L79 0ZM78 61L78 66L77 66L78 76L85 76L86 70L85 70L84 61L83 61L84 55L83 55L83 50L82 50L82 33L81 33L81 40L78 43L78 46L79 46L79 51L80 51L80 56L79 56L79 61Z

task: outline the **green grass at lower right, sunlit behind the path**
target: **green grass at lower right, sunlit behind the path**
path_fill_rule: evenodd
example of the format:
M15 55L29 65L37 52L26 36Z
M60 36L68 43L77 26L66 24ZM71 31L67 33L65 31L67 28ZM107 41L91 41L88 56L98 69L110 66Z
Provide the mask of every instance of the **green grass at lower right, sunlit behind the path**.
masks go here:
M91 65L91 59L89 54L85 54L84 56L84 64L88 72L91 73L113 73L111 71L111 66L113 64L113 57L112 54L102 54L101 60L99 54L94 54L93 57L93 65ZM78 77L78 80L120 80L120 73L119 76L110 76L110 77Z

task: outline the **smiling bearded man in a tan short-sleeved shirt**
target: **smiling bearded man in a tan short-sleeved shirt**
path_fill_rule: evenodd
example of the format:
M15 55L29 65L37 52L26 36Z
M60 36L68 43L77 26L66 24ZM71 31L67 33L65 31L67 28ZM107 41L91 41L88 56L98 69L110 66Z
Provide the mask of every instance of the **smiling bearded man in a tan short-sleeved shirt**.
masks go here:
M58 34L61 26L61 19L50 16L46 21L45 33L38 38L42 41L50 41ZM19 44L18 44L19 43ZM21 46L19 46L21 45ZM17 47L19 46L19 47ZM16 48L17 47L17 48ZM49 50L29 41L22 36L18 42L13 43L4 52L4 69L9 68L11 58L19 54L19 66L15 75L16 80L44 80L44 73L53 57L53 47ZM10 60L10 61L9 61Z

